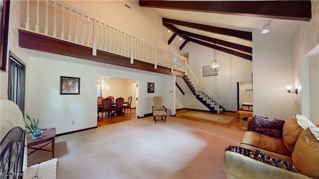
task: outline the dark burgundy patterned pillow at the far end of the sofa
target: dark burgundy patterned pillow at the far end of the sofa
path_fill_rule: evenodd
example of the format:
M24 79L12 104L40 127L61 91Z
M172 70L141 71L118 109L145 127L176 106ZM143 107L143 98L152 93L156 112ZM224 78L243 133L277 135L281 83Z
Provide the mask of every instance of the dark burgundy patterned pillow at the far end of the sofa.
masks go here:
M248 131L258 132L280 139L282 138L284 123L284 120L255 115L249 125Z

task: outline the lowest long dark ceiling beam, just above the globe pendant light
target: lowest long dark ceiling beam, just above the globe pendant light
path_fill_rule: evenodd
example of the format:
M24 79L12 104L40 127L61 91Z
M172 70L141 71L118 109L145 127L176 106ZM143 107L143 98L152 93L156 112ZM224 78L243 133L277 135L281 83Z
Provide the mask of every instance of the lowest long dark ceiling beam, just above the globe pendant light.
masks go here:
M247 55L247 54L244 54L241 52L230 50L230 49L227 49L224 47L220 47L220 46L217 46L217 45L214 45L214 44L211 44L208 42L203 42L203 41L193 39L193 38L189 38L189 41L206 46L206 47L209 47L209 48L213 48L213 49L216 49L216 50L219 50L219 51L222 51L222 52L225 52L225 53L228 53L228 54L231 54L231 55L234 55L234 56L237 56L237 57L249 60L249 61L253 61L253 56L251 56L251 55Z

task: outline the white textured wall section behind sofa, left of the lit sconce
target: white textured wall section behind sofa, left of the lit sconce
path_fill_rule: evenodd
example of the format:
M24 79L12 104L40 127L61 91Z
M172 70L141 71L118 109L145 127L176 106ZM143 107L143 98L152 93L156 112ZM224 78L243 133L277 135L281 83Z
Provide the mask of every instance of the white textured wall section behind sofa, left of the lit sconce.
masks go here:
M291 37L253 31L254 115L287 120L293 114Z

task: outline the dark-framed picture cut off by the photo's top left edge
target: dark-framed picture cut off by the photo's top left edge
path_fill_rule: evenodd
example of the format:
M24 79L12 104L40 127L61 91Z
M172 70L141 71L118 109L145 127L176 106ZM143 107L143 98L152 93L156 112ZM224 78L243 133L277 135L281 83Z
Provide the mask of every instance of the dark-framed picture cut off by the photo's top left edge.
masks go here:
M1 43L0 43L0 69L6 69L6 50L8 44L8 27L9 27L9 0L0 0L0 20L1 20Z

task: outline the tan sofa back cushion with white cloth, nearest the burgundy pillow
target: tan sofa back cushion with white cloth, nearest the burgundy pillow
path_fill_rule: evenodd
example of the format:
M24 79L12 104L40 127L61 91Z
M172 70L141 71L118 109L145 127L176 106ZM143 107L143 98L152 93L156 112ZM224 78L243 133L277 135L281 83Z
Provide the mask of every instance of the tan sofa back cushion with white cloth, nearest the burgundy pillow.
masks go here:
M294 151L295 144L299 135L304 131L304 128L315 126L310 120L302 115L290 117L283 127L283 140L287 149L291 152Z

